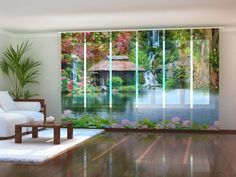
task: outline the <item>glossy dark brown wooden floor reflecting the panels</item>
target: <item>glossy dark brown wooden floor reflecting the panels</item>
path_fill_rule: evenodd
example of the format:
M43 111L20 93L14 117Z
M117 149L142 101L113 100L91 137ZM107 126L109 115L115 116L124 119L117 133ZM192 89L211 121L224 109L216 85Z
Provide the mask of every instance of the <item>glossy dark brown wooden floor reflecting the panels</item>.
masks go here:
M236 177L236 135L106 132L41 165L0 163L1 177Z

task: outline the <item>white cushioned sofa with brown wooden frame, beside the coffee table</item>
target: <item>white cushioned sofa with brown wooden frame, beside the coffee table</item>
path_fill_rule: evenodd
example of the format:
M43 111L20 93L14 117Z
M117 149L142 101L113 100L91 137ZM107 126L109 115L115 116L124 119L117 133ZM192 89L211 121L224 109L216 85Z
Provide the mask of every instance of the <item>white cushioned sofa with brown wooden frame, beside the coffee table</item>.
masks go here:
M0 91L0 139L15 135L15 125L27 121L44 121L43 99L13 100L7 91ZM25 129L23 132L30 131Z

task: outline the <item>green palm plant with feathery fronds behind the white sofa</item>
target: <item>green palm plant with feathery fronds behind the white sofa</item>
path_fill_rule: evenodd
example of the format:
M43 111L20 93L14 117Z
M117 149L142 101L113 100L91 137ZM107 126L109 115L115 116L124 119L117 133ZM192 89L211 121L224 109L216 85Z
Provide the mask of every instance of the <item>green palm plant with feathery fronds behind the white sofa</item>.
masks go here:
M16 48L10 45L0 60L0 68L9 79L12 86L10 94L14 99L29 99L38 95L28 89L29 84L38 84L41 65L41 62L27 55L30 49L28 41L18 44Z

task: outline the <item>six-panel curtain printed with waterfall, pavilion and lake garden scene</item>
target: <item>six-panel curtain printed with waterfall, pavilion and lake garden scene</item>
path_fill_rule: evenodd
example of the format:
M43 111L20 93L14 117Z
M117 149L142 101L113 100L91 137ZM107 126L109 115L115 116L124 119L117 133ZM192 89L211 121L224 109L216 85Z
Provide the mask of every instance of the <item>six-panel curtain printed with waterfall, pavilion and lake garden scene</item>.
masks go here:
M62 118L83 128L219 128L219 30L61 35Z

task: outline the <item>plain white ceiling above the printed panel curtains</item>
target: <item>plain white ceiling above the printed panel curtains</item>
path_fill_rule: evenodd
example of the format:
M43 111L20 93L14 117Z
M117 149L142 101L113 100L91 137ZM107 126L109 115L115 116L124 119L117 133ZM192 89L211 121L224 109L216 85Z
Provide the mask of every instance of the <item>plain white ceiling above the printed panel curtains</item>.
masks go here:
M154 27L236 27L236 0L1 0L15 33Z

